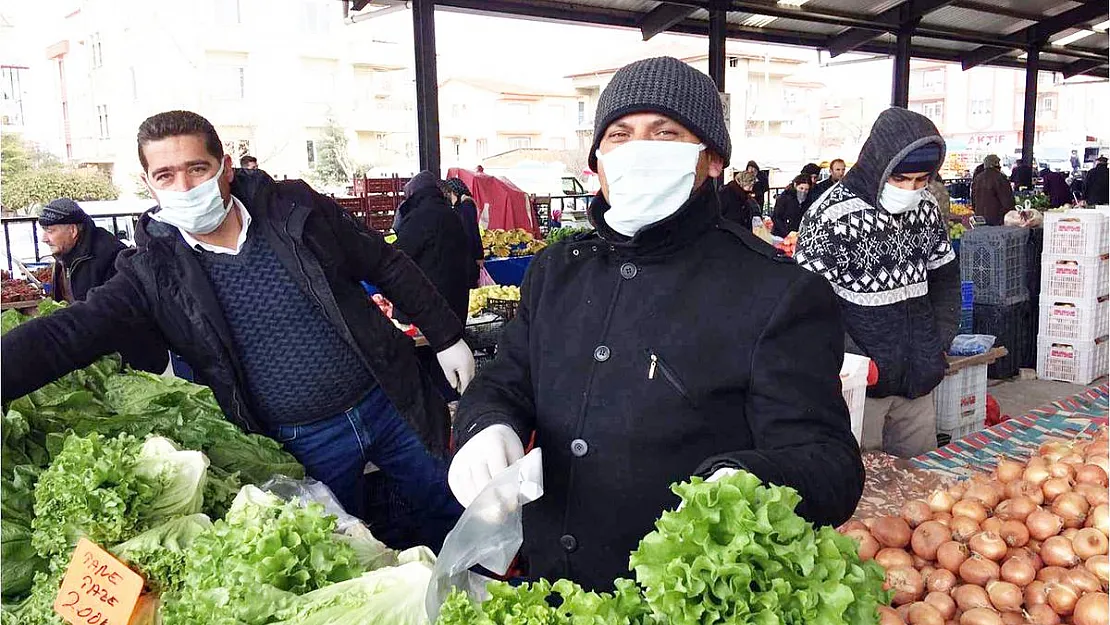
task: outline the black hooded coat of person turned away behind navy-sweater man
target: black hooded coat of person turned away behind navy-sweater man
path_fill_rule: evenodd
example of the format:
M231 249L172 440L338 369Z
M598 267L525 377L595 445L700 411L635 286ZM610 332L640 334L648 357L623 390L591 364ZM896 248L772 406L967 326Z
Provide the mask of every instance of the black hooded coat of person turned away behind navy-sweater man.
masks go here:
M421 174L423 175L423 174ZM440 292L460 322L466 320L474 259L463 220L440 191L434 177L414 178L398 206L398 250L411 258ZM424 184L421 184L421 182Z

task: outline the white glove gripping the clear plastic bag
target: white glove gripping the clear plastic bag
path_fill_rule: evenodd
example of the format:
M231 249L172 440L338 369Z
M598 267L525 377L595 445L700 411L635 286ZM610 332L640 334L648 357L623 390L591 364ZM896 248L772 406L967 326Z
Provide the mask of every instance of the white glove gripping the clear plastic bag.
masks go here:
M493 476L524 457L521 437L507 425L491 425L466 442L447 468L447 485L463 507L471 505Z

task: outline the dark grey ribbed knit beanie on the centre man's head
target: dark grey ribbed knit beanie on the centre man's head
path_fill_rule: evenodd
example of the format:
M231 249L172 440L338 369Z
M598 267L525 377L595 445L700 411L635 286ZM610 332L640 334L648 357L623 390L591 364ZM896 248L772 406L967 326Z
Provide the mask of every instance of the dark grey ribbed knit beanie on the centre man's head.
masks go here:
M728 167L733 143L717 85L706 74L670 57L636 61L620 68L597 100L589 168L597 171L597 147L605 129L630 114L655 112L686 127Z

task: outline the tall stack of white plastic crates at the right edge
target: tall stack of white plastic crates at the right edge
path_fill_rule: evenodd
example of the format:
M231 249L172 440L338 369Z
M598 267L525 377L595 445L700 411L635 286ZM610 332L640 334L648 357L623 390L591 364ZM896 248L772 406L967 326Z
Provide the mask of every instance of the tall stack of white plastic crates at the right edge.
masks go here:
M1089 384L1107 374L1110 211L1045 214L1037 375Z

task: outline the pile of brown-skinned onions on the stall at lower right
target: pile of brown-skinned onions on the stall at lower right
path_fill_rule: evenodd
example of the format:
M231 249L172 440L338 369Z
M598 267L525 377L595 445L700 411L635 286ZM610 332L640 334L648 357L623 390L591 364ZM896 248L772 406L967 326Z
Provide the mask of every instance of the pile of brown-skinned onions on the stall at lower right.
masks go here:
M887 571L880 625L1110 625L1108 433L840 532Z

